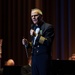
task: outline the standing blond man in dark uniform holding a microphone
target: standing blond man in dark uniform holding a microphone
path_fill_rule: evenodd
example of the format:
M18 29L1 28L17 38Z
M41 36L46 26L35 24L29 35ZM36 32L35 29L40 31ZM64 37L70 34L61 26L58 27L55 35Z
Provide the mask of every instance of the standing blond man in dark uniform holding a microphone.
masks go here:
M30 35L32 42L22 39L27 48L32 46L32 75L51 74L51 47L54 39L54 28L43 21L43 13L40 9L31 10Z

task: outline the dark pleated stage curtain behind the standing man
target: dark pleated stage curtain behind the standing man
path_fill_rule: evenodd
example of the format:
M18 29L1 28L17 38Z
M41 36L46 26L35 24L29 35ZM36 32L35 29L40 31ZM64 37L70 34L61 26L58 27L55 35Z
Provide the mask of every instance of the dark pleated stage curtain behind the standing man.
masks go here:
M52 58L68 60L75 53L75 0L0 0L2 66L9 58L16 65L27 64L21 41L23 37L30 40L30 11L36 7L43 11L44 20L54 25Z

